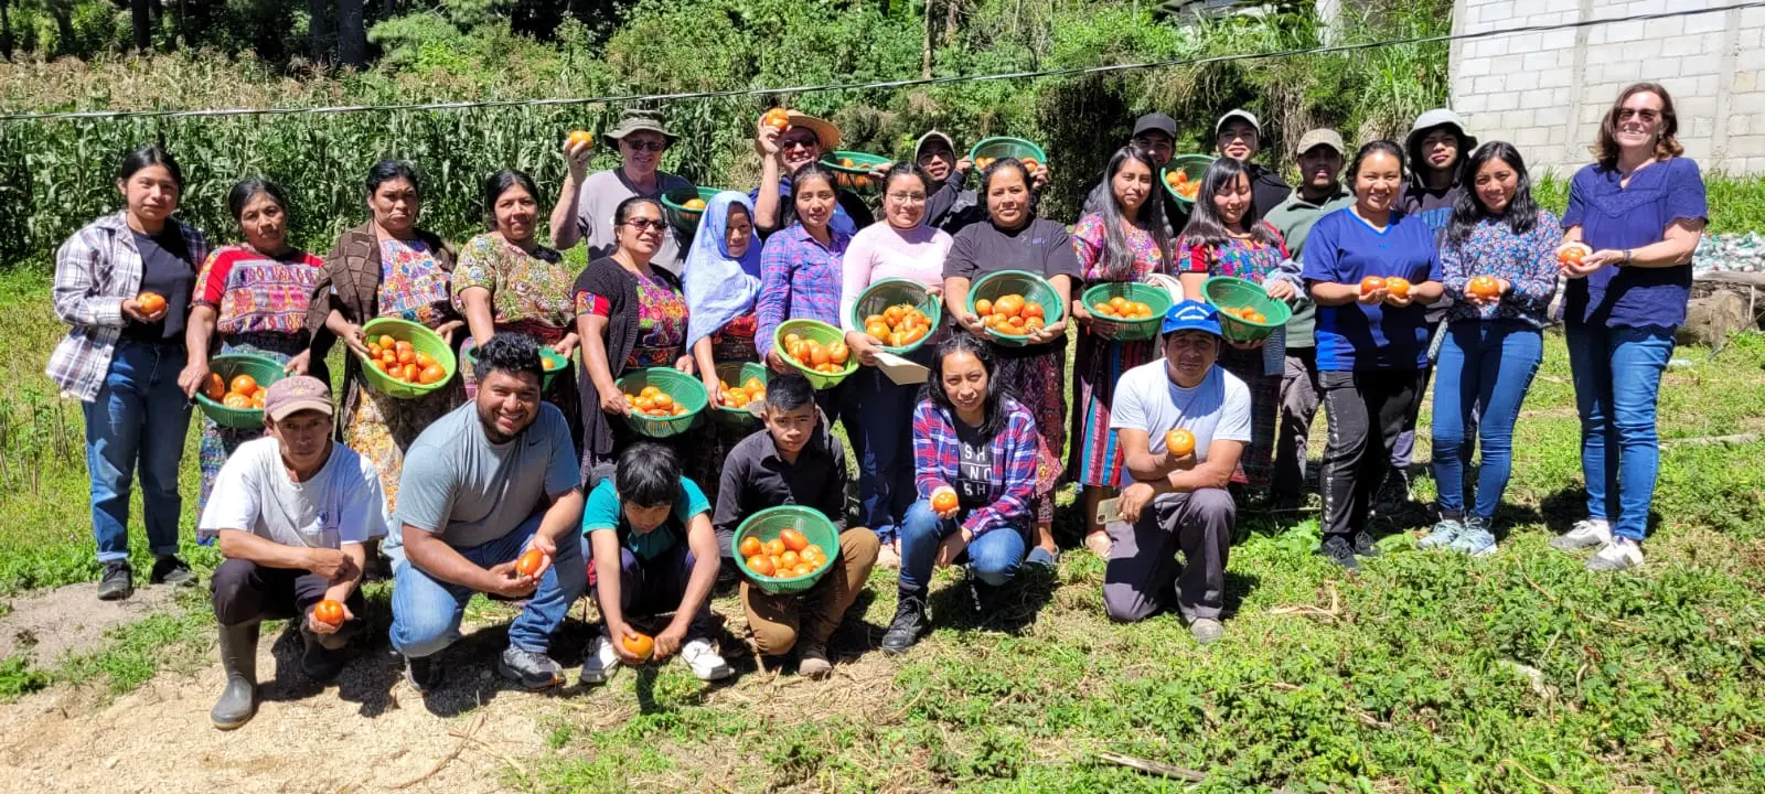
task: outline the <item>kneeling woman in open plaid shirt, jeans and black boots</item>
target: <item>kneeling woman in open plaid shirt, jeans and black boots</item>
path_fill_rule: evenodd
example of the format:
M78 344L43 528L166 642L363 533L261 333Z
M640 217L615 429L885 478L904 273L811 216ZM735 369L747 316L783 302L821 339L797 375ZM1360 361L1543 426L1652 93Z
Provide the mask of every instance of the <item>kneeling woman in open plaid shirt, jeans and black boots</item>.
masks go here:
M1010 582L1024 565L1034 522L1036 418L995 388L985 342L955 335L932 362L930 399L913 413L914 485L920 501L900 529L900 593L882 649L905 653L927 630L932 566L967 554L980 595Z

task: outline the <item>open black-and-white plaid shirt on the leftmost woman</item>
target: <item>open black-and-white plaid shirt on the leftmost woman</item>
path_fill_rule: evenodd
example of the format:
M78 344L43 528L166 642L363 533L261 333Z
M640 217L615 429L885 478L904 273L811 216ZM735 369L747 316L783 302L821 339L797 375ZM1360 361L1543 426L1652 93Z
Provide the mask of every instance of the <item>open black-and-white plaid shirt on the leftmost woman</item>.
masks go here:
M194 266L208 261L208 240L182 221L178 233L191 249ZM141 252L122 212L92 221L55 252L55 316L72 328L49 355L44 374L64 397L92 402L109 374L116 337L127 318L122 302L141 291Z

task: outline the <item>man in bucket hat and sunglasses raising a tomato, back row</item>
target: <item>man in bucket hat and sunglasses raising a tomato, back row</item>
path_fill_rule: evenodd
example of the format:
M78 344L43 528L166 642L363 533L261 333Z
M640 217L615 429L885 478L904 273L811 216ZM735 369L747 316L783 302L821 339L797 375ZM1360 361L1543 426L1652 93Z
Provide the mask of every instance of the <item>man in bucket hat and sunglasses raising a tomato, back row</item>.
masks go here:
M588 240L588 261L611 256L614 242L612 212L632 196L660 198L664 192L690 191L685 178L660 171L662 152L674 143L662 122L639 109L627 109L620 124L605 132L607 141L620 150L620 168L588 173L595 155L591 141L565 141L563 154L570 173L563 180L558 206L552 208L552 243L568 251L577 240ZM678 273L683 247L672 228L662 229L662 247L651 265Z

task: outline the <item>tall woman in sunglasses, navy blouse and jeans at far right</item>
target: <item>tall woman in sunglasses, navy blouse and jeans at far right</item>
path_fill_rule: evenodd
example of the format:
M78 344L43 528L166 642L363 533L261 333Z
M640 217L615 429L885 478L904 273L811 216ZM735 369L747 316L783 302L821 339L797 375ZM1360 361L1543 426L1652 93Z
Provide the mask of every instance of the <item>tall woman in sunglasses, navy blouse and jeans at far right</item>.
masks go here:
M1666 88L1624 88L1599 125L1597 162L1574 175L1562 217L1564 249L1587 251L1580 263L1562 265L1587 519L1551 545L1601 547L1588 570L1643 565L1661 468L1661 372L1673 355L1673 328L1686 321L1691 254L1709 213L1703 176L1680 157L1677 132Z

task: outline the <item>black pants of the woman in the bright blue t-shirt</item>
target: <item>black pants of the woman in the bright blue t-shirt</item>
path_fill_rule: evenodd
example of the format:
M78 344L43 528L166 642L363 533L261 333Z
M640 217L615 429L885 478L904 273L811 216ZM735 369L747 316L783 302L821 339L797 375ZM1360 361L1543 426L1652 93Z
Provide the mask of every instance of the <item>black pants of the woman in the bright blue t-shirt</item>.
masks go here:
M1329 422L1322 476L1326 540L1366 528L1424 378L1419 369L1318 372Z

